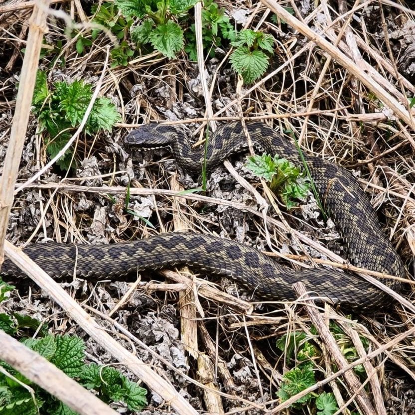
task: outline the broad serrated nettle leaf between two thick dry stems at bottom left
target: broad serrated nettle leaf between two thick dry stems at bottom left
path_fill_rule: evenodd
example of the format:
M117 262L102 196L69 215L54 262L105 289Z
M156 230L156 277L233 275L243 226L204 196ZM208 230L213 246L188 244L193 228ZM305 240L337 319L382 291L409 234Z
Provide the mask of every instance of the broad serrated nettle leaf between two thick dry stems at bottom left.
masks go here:
M69 377L78 377L84 367L85 344L76 336L56 336L56 351L51 362Z

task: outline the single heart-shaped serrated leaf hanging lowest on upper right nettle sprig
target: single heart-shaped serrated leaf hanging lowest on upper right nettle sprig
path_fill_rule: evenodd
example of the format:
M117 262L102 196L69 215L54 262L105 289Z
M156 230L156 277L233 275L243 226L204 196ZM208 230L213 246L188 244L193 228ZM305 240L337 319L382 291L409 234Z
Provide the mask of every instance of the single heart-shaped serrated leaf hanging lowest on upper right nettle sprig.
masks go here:
M247 84L251 84L262 76L268 68L269 58L261 50L250 50L247 46L239 46L230 57L233 69L242 75Z

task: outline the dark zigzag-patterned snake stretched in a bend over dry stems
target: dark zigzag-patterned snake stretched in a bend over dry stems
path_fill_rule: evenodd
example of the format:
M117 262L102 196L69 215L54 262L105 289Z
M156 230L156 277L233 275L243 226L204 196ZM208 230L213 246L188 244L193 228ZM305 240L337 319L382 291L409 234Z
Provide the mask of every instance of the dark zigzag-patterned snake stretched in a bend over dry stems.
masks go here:
M296 146L261 122L247 123L256 151L278 154L301 165ZM127 146L143 149L169 147L178 165L189 173L210 171L223 160L247 148L240 122L222 125L209 135L208 145L193 148L183 125L149 123L130 132ZM378 273L405 277L403 262L385 236L377 213L353 174L328 160L303 152L311 179L326 213L343 241L350 264ZM230 277L260 301L294 301L292 285L302 281L322 302L344 310L374 312L391 304L391 297L366 279L332 268L293 269L249 245L218 236L172 232L115 244L28 244L32 260L55 279L119 279L142 271L188 266L205 275ZM5 260L1 274L21 272ZM379 278L391 289L402 290L400 278Z

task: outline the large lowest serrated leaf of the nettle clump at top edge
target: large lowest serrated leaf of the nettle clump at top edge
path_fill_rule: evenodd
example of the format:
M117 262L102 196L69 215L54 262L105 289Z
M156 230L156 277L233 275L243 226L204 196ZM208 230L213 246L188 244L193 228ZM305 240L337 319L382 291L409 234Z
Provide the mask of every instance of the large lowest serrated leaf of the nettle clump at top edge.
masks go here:
M184 46L183 30L171 20L158 24L149 37L151 46L170 59L173 59Z

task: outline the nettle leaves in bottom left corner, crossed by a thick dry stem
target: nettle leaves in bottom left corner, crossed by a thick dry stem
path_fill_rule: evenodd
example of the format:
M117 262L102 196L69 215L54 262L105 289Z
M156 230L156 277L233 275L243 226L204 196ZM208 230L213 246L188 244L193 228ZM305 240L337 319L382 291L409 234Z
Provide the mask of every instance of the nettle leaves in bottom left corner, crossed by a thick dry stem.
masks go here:
M95 363L85 364L85 344L77 336L46 335L40 339L21 340L27 347L61 369L70 378L88 389L93 389L107 404L123 402L138 413L147 405L146 390L128 380L118 370ZM27 389L4 374L0 374L0 415L76 415L69 407L56 400L5 362L0 361L9 374L34 390L34 400Z

